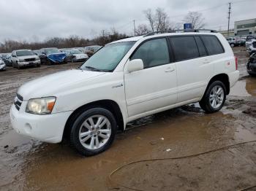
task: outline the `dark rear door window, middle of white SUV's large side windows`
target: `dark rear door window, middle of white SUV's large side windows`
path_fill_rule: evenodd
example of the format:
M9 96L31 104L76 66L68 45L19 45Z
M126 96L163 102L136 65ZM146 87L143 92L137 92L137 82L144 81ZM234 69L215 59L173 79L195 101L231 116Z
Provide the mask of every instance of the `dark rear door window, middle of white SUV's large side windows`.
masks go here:
M199 57L197 44L194 36L171 36L176 61L184 61Z

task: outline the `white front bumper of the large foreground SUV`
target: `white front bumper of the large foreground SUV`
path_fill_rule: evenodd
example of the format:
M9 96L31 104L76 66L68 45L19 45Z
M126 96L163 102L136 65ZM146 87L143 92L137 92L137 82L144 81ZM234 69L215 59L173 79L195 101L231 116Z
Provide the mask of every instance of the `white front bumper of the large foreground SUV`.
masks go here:
M29 136L48 143L59 143L62 140L64 126L72 113L60 112L56 114L29 114L24 112L26 101L20 106L20 111L12 104L10 118L12 127L23 136Z

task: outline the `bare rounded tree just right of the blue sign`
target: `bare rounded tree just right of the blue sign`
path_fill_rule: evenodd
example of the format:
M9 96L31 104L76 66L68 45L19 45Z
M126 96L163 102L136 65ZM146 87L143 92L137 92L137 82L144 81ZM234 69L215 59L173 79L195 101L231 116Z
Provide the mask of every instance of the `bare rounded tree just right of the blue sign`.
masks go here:
M192 28L203 28L206 26L206 23L204 23L204 17L202 13L200 12L189 12L185 17L184 17L184 22L185 23L191 23Z

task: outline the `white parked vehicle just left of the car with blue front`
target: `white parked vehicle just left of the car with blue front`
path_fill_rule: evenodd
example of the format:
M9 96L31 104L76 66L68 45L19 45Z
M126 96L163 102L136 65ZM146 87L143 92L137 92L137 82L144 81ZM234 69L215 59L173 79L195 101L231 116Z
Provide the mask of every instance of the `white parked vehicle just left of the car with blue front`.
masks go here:
M32 50L13 50L11 55L12 66L20 69L24 66L41 65L40 58Z

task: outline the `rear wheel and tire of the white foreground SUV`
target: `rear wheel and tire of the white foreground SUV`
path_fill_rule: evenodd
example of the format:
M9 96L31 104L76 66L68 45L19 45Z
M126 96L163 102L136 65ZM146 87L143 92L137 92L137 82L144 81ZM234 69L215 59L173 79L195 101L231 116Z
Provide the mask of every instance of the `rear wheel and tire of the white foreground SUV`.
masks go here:
M206 113L218 112L225 104L227 90L225 85L220 81L212 82L199 102L200 107Z

